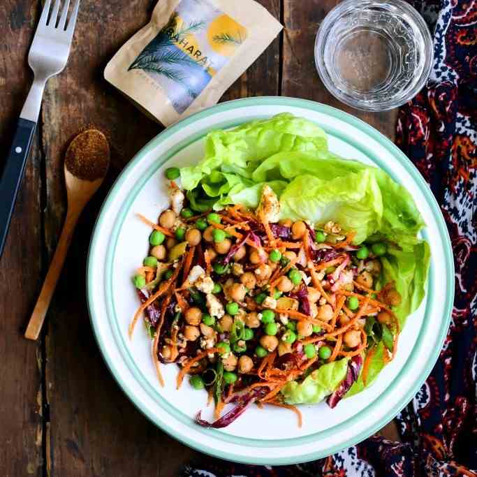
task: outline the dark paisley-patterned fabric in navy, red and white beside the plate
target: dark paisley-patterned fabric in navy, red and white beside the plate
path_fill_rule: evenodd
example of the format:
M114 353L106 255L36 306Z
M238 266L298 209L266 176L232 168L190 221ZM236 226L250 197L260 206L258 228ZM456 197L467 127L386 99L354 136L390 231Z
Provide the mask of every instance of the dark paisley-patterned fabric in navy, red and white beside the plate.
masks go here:
M477 477L477 0L411 3L434 31L435 60L427 87L399 112L397 144L441 204L455 257L455 303L432 374L397 416L402 443L373 436L290 467L205 459L183 477Z

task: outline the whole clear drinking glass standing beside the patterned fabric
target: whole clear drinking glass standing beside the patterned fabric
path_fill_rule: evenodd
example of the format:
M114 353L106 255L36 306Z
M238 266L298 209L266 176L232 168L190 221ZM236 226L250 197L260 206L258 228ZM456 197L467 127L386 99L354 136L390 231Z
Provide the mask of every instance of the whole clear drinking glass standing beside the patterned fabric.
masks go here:
M402 0L346 0L325 17L315 61L325 87L368 111L396 108L416 96L432 68L432 37Z

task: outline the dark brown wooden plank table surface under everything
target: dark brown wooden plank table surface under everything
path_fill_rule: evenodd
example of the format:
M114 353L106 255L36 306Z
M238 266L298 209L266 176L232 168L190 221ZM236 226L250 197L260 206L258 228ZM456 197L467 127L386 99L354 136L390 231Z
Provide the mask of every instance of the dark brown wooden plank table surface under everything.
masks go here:
M0 261L0 475L172 476L196 455L135 409L108 372L94 341L85 298L91 229L113 180L161 131L103 80L118 48L147 22L155 0L82 0L64 73L47 85L41 122ZM360 113L323 88L314 39L335 0L260 0L284 34L223 100L298 96L348 110L392 138L395 112ZM0 9L0 145L6 156L31 82L27 52L40 13L36 0ZM112 146L108 179L87 207L38 343L23 330L41 288L66 212L63 155L85 126ZM387 436L396 436L386 427Z

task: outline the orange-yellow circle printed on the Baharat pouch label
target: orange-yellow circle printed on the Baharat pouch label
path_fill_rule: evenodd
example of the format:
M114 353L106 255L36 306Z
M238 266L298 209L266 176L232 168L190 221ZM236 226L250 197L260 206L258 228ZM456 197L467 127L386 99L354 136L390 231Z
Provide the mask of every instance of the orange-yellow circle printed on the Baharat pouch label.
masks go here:
M232 56L246 38L247 29L228 15L217 17L207 31L207 39L212 49L224 57Z

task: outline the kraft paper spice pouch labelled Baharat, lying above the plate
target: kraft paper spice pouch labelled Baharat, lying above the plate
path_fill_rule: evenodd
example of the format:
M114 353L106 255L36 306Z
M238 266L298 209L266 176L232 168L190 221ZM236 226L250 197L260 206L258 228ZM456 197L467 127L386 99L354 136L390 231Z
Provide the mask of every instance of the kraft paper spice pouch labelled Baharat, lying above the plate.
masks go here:
M217 103L281 28L254 0L159 0L105 79L168 126Z

